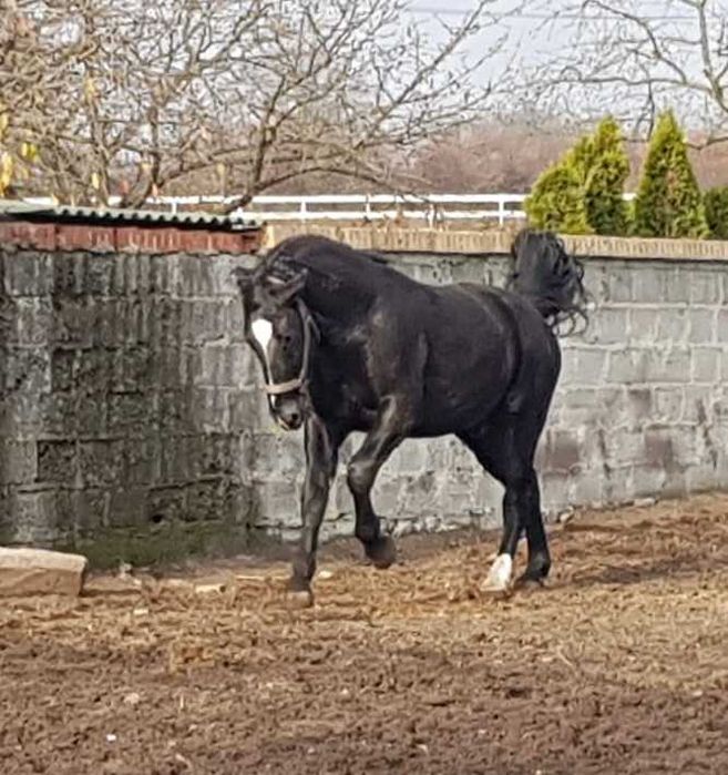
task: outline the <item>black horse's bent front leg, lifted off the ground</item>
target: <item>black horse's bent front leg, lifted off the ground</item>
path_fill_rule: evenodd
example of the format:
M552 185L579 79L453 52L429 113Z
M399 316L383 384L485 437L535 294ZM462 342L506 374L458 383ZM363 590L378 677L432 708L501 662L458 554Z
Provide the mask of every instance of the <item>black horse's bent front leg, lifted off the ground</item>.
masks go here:
M377 421L351 458L347 482L356 509L356 537L367 557L377 568L389 568L397 559L394 541L381 534L379 517L371 504L371 488L379 469L407 437L411 428L411 411L407 400L384 399Z

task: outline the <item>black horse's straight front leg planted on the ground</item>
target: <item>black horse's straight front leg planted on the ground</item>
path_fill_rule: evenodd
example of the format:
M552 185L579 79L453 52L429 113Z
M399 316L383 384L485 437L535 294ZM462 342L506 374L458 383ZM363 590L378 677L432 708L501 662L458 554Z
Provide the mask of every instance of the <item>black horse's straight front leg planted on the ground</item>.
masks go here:
M329 499L331 479L336 473L341 435L316 416L306 420L306 479L301 492L301 534L294 557L289 582L291 598L300 605L314 602L311 580L316 573L318 533Z

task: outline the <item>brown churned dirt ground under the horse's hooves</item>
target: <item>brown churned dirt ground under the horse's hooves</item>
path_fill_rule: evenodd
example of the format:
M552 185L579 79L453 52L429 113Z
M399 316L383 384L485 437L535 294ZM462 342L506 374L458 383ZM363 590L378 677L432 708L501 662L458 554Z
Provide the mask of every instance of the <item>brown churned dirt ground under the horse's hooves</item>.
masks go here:
M0 773L728 772L728 496L580 512L510 598L494 548L328 548L306 611L245 558L2 601Z

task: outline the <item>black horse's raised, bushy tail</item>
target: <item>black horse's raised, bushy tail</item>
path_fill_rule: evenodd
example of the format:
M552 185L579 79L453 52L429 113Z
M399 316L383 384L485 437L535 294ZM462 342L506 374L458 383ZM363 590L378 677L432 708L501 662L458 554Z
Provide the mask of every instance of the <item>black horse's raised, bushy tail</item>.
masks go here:
M586 325L584 267L552 232L524 228L511 246L509 287L526 296L552 327L562 320Z

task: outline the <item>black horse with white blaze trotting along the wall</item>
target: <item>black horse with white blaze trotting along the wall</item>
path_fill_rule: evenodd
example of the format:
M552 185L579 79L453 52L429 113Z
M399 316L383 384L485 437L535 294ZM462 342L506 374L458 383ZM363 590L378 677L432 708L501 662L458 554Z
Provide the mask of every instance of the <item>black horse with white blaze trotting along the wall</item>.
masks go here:
M347 469L356 536L379 568L396 559L371 504L379 469L406 438L457 435L505 488L499 557L484 589L511 583L525 531L522 581L551 567L533 468L558 373L555 325L585 318L581 264L551 233L521 232L510 290L470 283L433 287L376 254L317 236L291 237L254 271L235 272L246 338L265 375L270 411L305 425L303 534L290 589L312 601L318 533L337 453L366 438Z

